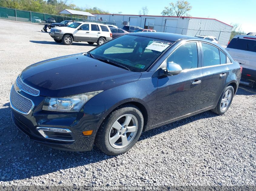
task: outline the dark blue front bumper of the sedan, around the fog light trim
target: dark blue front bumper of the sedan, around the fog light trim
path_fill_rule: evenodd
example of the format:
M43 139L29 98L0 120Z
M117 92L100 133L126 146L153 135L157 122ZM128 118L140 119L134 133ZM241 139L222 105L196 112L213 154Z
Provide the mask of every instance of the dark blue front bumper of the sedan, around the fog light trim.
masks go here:
M103 118L84 113L83 107L78 113L43 111L42 105L45 97L33 96L24 91L16 91L16 93L34 103L32 109L23 114L13 106L15 105L13 103L17 101L22 103L22 101L14 99L12 96L10 100L12 120L18 129L28 135L30 140L65 151L89 151L92 149L98 127ZM14 100L12 101L12 99ZM45 131L47 136L44 136L40 129L45 128L61 128L66 129L67 132ZM89 130L93 130L91 135L83 135L83 131Z

